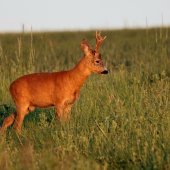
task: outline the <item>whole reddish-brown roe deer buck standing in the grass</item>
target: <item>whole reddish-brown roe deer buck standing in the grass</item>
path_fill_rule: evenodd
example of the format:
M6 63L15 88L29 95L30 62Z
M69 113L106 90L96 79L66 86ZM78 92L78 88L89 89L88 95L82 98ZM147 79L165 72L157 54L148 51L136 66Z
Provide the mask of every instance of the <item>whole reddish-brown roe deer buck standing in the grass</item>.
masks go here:
M101 33L101 31L100 31ZM10 86L10 94L15 102L16 111L8 116L2 125L2 133L14 121L14 128L21 133L21 124L26 114L35 107L47 108L55 106L58 121L71 111L73 103L77 100L80 87L91 73L107 74L99 48L102 41L100 33L94 34L96 49L93 50L86 39L81 42L84 57L70 71L54 73L34 73L15 80Z

